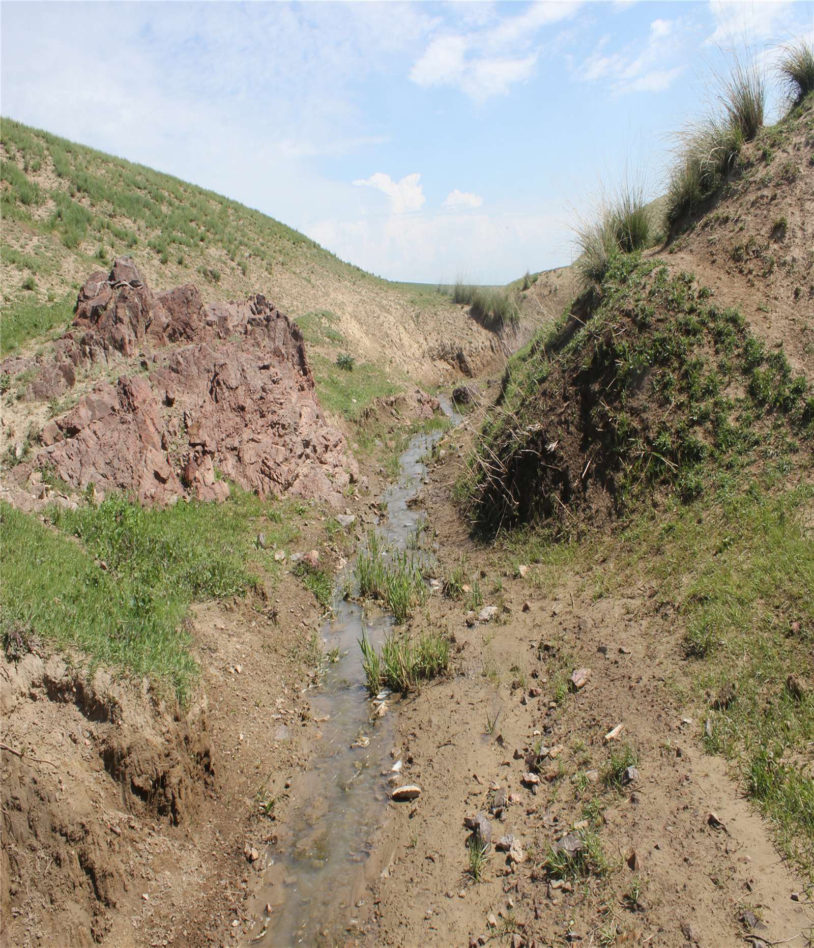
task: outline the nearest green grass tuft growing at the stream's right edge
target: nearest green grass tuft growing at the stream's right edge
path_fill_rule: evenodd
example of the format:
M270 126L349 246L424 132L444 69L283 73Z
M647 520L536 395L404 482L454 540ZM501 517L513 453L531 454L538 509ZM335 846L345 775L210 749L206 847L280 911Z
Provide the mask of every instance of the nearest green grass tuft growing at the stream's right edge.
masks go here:
M390 632L381 651L376 651L366 634L359 639L359 647L371 695L382 687L406 694L449 667L449 640L438 631L422 632L416 637Z

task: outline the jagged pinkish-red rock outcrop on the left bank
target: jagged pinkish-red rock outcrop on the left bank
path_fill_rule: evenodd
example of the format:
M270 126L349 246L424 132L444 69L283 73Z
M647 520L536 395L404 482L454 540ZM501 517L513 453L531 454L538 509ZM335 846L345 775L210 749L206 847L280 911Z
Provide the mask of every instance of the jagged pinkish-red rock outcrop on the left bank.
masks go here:
M357 476L319 407L298 327L261 295L205 305L190 284L154 294L121 258L82 286L73 326L27 396L55 397L76 367L117 360L137 360L140 373L100 383L49 422L26 468L161 504L224 500L228 479L338 505Z

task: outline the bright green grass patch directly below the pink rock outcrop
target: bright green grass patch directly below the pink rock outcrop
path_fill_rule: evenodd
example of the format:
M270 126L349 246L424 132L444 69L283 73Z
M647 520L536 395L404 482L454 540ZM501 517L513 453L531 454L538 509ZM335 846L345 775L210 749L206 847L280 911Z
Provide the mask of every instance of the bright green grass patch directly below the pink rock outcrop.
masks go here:
M92 664L146 675L185 701L197 677L184 624L190 603L245 593L260 569L274 569L273 556L252 546L266 509L237 490L223 504L164 510L111 497L50 507L47 526L4 503L4 639L22 631L78 647ZM263 529L280 542L292 536L285 523Z

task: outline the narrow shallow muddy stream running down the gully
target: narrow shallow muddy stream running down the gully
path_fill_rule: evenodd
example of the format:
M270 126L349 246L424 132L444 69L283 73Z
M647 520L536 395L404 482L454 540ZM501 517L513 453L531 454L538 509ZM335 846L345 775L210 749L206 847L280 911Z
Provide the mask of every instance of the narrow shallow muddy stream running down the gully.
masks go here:
M461 421L448 399L440 398L454 424ZM441 437L441 431L417 434L401 456L398 481L382 498L386 517L376 532L390 546L404 549L407 538L424 520L407 503L426 474L421 462ZM393 618L381 610L366 610L342 598L342 587L353 574L353 561L338 574L334 614L320 629L326 650L338 647L340 660L328 666L310 695L322 738L307 773L297 775L290 788L294 801L289 819L280 828L277 845L268 853L268 868L255 893L259 908L269 903L249 939L262 948L289 945L333 945L353 932L371 866L377 865L373 839L382 827L389 801L388 777L397 758L390 756L396 739L398 696L382 693L383 717L374 717L379 702L371 701L365 685L358 640L363 631L379 648ZM408 781L406 781L408 782Z

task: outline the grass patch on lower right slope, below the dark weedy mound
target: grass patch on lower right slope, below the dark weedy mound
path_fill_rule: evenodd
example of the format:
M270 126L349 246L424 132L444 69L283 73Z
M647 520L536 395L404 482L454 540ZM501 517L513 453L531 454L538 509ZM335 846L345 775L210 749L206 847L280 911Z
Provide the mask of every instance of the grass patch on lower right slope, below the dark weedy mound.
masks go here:
M643 513L614 539L614 570L655 579L685 636L704 643L683 644L699 737L733 761L781 850L810 875L814 696L798 700L787 677L811 684L814 487L778 491L783 480L782 468L763 482L723 476L715 495ZM734 702L711 709L707 692L729 683Z

